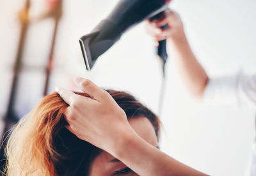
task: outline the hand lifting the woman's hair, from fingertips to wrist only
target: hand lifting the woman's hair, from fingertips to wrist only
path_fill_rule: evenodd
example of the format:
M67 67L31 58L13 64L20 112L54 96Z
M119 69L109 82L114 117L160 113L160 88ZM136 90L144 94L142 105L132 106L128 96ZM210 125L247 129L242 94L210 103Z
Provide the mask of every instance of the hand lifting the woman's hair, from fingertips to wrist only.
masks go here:
M78 138L111 152L116 147L115 141L120 141L120 138L124 137L122 133L133 133L124 110L108 92L92 81L77 77L75 82L91 98L79 96L67 89L56 88L56 92L69 105L64 112L69 124L67 128Z

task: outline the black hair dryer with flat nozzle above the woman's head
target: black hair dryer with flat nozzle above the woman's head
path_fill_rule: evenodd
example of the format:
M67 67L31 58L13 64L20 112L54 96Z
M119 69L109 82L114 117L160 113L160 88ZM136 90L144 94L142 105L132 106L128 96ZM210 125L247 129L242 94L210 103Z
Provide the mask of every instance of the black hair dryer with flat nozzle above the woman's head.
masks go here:
M108 17L102 20L92 33L82 36L79 40L86 69L90 70L97 58L114 45L127 29L146 18L158 17L168 8L170 1L120 0ZM161 50L163 52L163 46Z

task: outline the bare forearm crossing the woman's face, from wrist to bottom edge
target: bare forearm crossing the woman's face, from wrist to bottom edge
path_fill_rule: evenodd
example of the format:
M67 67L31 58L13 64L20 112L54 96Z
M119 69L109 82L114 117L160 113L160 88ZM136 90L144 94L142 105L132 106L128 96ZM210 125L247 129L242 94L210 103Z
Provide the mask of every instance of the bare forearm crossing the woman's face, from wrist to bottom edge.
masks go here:
M205 175L164 154L136 133L122 136L124 143L115 147L113 155L139 175Z

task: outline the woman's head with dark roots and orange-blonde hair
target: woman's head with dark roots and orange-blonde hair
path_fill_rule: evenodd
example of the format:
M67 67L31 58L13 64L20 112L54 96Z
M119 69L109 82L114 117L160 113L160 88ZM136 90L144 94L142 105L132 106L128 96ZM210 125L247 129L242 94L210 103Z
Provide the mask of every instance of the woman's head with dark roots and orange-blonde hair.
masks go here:
M125 111L134 131L157 147L157 116L130 94L108 92ZM86 93L77 94L88 96ZM67 106L57 93L50 94L17 124L6 152L8 175L94 176L129 173L129 169L113 156L80 140L65 128L68 124L63 112Z

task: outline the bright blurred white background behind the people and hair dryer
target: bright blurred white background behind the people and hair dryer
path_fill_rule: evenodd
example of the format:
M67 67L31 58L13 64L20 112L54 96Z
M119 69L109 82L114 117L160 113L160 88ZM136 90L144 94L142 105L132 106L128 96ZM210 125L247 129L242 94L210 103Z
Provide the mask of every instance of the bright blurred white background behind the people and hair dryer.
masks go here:
M130 92L158 112L161 62L143 24L125 33L92 71L86 71L78 39L90 33L117 2L0 0L1 131L8 107L13 119L20 119L55 86L76 89L74 76ZM180 13L189 43L211 77L239 70L255 73L255 6L253 0L175 0L170 4ZM210 175L247 175L255 111L198 103L186 92L169 55L161 150Z

